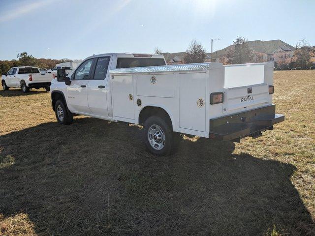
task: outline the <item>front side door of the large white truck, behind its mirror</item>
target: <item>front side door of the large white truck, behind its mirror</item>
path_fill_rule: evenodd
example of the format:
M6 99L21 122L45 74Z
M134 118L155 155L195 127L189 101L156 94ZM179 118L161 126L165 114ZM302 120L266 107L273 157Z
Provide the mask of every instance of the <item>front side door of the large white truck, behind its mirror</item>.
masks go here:
M91 77L93 59L84 61L74 72L71 85L67 86L67 105L71 112L91 113L87 87Z

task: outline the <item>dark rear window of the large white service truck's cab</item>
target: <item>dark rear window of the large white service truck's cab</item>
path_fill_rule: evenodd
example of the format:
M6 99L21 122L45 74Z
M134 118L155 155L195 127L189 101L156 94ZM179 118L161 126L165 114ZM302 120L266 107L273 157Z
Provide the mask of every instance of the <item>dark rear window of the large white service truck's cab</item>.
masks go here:
M165 65L162 58L118 58L116 68Z

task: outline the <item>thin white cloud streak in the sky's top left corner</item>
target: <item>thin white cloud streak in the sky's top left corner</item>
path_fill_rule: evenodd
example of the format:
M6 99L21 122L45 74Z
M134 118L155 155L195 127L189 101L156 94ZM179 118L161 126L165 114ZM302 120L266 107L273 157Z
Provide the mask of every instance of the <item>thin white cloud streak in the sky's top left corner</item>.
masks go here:
M37 0L32 3L20 4L19 7L15 8L13 11L8 11L7 13L0 13L0 23L13 20L20 16L23 16L32 10L38 9L40 7L44 7L56 0Z

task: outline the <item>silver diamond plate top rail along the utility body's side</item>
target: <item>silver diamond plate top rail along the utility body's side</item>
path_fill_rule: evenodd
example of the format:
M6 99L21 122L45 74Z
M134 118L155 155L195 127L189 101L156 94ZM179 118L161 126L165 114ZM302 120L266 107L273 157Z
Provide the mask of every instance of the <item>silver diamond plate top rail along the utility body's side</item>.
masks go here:
M168 72L168 71L189 71L189 70L209 70L210 63L193 63L178 65L160 65L147 67L131 67L109 70L110 74L130 74L130 73L148 73L148 72Z

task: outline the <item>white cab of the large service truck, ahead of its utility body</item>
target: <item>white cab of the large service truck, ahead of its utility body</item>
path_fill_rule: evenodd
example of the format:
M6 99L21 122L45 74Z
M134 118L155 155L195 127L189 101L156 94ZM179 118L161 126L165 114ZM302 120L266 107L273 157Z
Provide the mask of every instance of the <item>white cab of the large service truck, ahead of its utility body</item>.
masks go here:
M55 107L58 94L62 94L72 113L112 120L109 70L158 65L166 65L162 55L111 53L88 57L67 76L69 85L52 81L52 106Z

